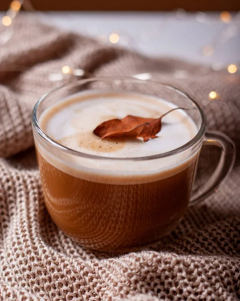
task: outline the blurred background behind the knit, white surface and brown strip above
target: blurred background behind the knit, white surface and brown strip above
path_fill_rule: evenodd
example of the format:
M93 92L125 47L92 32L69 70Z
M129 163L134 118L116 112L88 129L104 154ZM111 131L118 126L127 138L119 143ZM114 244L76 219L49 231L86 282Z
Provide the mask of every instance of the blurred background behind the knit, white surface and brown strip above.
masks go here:
M215 71L240 69L240 0L0 0L6 31L25 11L63 30L148 56L204 63Z

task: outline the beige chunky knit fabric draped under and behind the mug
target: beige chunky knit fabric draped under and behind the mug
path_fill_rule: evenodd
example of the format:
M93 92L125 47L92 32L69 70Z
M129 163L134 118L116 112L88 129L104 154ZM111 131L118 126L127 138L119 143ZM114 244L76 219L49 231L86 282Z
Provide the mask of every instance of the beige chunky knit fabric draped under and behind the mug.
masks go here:
M12 39L0 45L0 300L240 298L239 156L218 192L190 207L161 242L140 252L104 255L83 249L49 217L30 121L38 98L62 84L48 77L63 65L84 68L94 76L151 72L155 80L195 98L207 115L208 128L225 132L237 143L239 75L173 59L149 59L59 32L35 19L19 19L13 28ZM26 70L6 71L16 68ZM174 70L182 69L189 76L173 78ZM221 99L209 101L211 90ZM211 153L202 158L198 179L206 181L206 166L216 160Z

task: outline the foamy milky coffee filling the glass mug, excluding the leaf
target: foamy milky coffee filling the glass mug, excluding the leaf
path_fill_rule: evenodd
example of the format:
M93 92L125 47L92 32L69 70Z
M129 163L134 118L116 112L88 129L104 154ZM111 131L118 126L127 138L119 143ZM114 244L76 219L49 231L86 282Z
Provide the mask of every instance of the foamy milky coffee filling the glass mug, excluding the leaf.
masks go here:
M100 140L93 134L109 119L156 118L174 107L137 93L96 90L58 101L42 113L43 131L79 152L54 154L36 141L46 206L64 232L87 247L120 251L149 244L175 227L189 202L197 153L129 158L169 152L191 140L197 127L187 113L176 110L163 117L158 137L147 142Z

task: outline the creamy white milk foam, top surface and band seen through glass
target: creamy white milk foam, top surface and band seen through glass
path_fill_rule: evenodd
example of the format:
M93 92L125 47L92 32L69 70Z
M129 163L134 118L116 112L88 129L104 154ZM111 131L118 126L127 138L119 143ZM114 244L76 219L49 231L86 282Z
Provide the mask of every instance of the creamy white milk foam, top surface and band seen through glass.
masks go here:
M165 100L138 93L97 90L81 92L46 109L39 120L41 128L55 141L78 152L106 157L106 159L126 158L126 161L96 162L80 157L68 158L65 161L44 150L41 145L38 145L39 143L37 148L55 167L80 178L89 179L91 174L92 179L92 175L95 174L99 179L94 181L104 181L104 183L106 181L103 178L111 176L134 176L134 183L137 178L143 176L144 182L154 181L150 179L152 177L157 177L156 181L159 177L166 178L187 168L194 161L193 157L189 158L189 153L183 152L158 161L134 162L128 158L162 154L191 140L197 133L197 126L186 111L175 110L164 116L158 137L147 142L142 138L100 140L93 134L93 130L109 119L124 118L126 115L157 118L175 107ZM146 179L148 176L149 180Z

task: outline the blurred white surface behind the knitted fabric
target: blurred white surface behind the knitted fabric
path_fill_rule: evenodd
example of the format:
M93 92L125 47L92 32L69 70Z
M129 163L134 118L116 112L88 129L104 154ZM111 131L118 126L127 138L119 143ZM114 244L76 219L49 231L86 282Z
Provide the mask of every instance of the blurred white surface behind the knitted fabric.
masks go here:
M111 33L118 33L119 45L151 56L180 57L210 64L240 63L239 16L238 21L225 24L217 13L204 16L201 13L179 16L175 13L139 12L51 12L38 15L49 24L104 40L108 40ZM200 22L202 19L204 22ZM212 56L203 56L201 48L218 39L222 29L232 29L237 34L219 45Z

